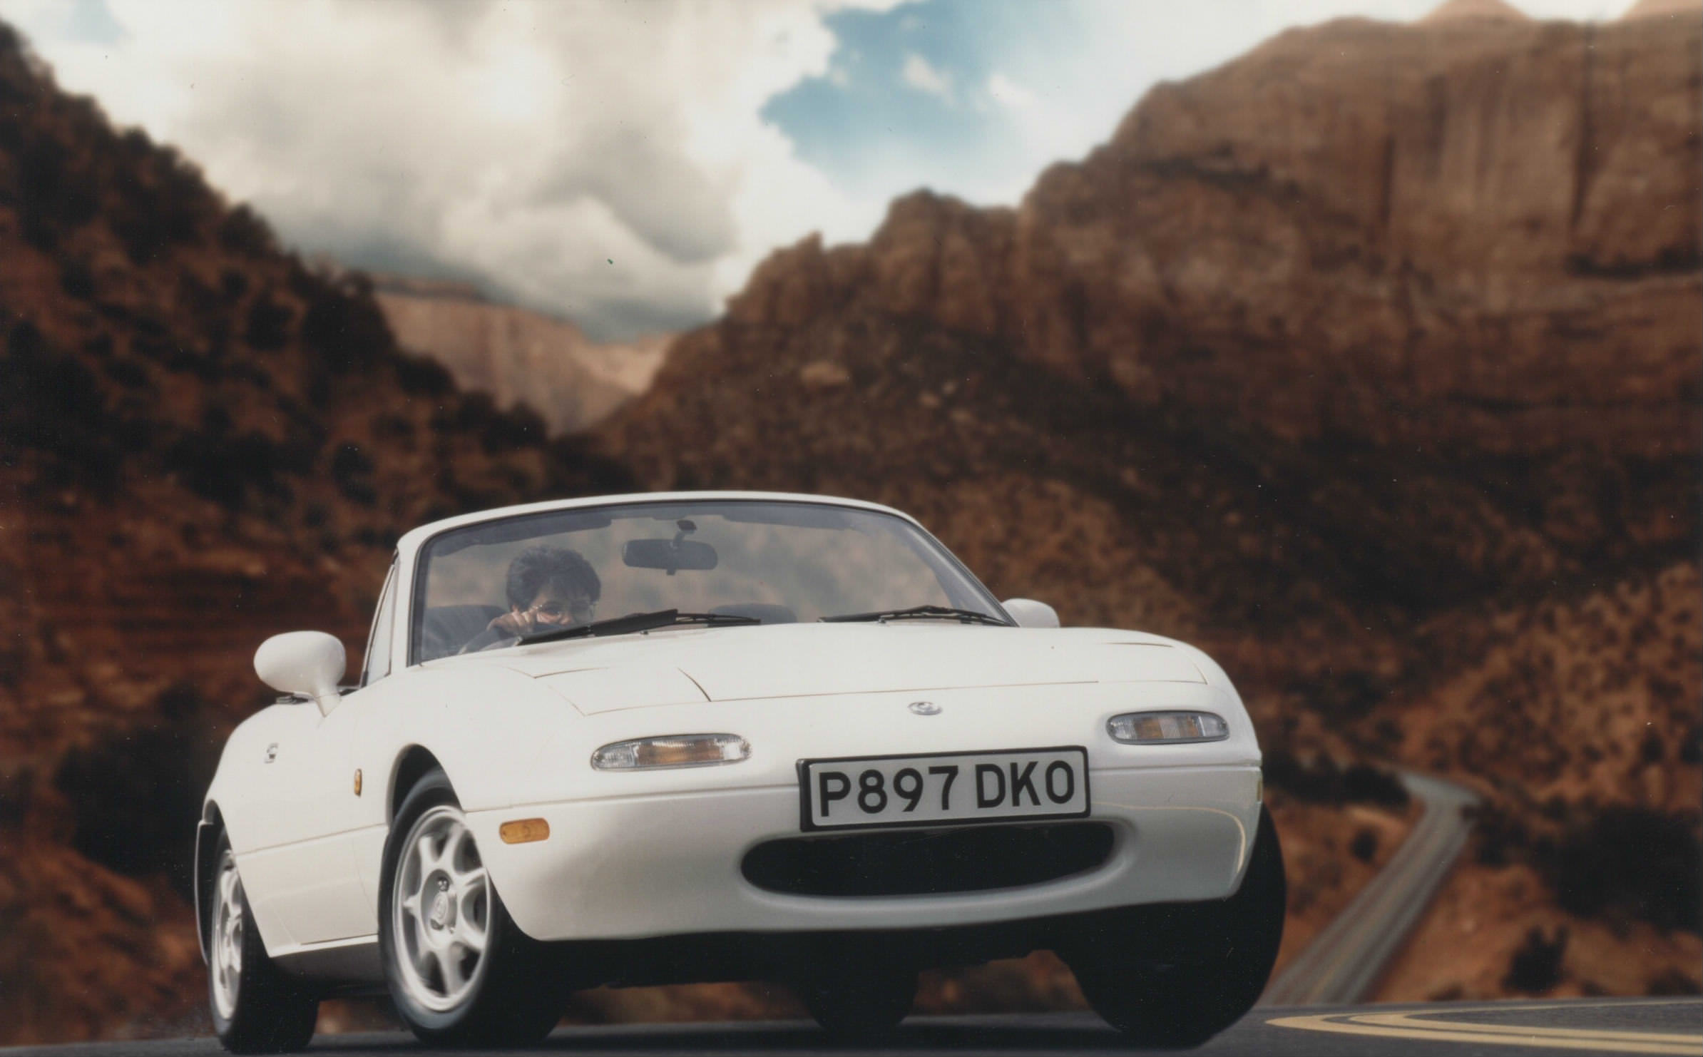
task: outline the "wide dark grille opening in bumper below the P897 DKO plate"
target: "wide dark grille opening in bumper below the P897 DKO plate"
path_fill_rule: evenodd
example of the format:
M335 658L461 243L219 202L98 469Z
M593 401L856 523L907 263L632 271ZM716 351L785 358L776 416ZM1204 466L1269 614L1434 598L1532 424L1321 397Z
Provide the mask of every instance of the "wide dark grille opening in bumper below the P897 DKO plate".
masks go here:
M746 853L741 871L788 895L930 895L1041 885L1110 854L1104 822L974 826L766 841Z

